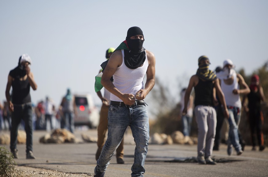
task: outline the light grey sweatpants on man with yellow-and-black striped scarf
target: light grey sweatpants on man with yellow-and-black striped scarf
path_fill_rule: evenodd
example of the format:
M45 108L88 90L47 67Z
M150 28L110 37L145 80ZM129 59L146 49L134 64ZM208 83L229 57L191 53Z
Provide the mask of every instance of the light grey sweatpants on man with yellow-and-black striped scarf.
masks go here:
M214 107L198 105L195 107L198 127L197 154L208 158L212 155L216 134L217 116Z

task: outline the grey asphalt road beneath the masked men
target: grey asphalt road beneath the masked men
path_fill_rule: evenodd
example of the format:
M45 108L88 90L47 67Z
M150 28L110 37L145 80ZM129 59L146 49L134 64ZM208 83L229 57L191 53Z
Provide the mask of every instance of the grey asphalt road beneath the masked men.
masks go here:
M8 133L8 132L7 132ZM33 148L36 159L25 159L25 144L18 145L18 166L52 169L68 173L93 175L96 165L96 143L65 143L40 144L39 138L48 132L33 133ZM96 130L75 130L77 139L82 140L81 134L97 137ZM6 146L9 149L9 146ZM105 177L130 176L134 159L134 140L131 133L125 135L124 160L125 164L117 164L111 159L111 164ZM148 147L145 163L145 177L261 177L268 176L268 148L264 151L251 151L246 146L242 155L235 153L227 155L227 146L221 145L219 151L213 151L217 165L199 165L195 161L196 145L153 145Z

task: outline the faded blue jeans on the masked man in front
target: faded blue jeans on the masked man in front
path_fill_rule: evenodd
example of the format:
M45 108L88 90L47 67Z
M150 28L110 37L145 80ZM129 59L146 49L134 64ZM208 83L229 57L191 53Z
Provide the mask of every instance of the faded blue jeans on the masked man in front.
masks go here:
M109 106L108 136L97 160L98 171L106 171L116 148L123 139L127 126L130 126L136 143L131 177L143 177L149 142L149 117L144 104L132 107Z

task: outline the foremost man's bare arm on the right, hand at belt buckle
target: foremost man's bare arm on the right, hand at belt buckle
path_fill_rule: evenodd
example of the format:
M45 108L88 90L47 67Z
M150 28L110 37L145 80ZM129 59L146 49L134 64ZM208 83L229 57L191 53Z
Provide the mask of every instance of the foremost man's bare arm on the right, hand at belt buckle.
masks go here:
M137 94L139 94L136 96L137 100L144 100L147 94L153 89L153 86L155 84L155 57L153 53L148 50L146 50L146 54L149 63L146 71L146 83L145 88L137 92Z

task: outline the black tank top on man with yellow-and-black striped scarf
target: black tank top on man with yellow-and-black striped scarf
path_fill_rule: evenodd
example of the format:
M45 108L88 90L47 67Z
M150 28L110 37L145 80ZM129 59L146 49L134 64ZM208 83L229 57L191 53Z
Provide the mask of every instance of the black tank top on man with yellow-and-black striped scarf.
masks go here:
M195 86L195 106L213 106L213 86L212 81L202 81L199 79Z

